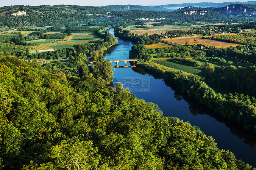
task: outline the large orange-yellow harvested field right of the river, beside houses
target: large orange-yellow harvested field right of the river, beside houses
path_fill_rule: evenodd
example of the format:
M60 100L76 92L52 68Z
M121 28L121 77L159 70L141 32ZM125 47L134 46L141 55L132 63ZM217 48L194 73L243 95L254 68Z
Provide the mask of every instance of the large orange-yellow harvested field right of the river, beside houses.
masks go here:
M193 44L202 44L202 45L209 45L209 46L215 46L216 48L222 48L222 47L229 47L229 46L237 46L239 44L235 43L227 43L227 42L221 42L221 41L215 41L215 40L207 40L197 37L177 37L173 39L163 39L164 41L176 43L176 44L182 44L185 45L186 42L189 43L189 45ZM194 41L196 40L196 41Z

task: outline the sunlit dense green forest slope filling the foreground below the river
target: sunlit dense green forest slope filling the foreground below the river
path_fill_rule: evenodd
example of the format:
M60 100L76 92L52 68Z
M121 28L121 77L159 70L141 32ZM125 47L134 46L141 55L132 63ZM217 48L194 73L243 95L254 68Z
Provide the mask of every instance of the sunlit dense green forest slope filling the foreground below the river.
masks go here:
M0 69L1 169L252 169L121 84L10 57Z

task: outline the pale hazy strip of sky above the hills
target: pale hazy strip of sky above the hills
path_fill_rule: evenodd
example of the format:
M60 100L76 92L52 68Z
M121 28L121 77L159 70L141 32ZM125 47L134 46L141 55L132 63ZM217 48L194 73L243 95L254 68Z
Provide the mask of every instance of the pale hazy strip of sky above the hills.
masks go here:
M129 1L118 1L118 0L0 0L0 7L10 5L85 5L85 6L104 6L104 5L165 5L165 4L181 4L185 2L191 2L191 0L129 0ZM239 1L239 0L236 0ZM243 0L241 0L243 1ZM234 0L194 0L193 2L234 2Z

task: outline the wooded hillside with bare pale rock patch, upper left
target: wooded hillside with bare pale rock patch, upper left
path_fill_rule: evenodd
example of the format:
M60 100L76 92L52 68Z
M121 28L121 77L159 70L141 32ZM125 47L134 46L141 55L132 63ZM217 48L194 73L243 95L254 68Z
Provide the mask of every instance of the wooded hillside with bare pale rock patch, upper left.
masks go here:
M15 16L13 14L24 11L26 15ZM95 15L106 15L110 9L88 6L5 6L0 8L0 27L42 27L58 25L71 22L85 22L98 17Z

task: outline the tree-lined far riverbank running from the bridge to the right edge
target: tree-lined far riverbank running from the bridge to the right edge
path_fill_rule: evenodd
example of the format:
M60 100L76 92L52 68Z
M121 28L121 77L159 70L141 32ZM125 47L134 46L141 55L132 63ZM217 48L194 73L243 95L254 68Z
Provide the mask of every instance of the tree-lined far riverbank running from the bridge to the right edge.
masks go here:
M176 84L182 92L193 96L200 103L207 105L210 109L227 117L232 121L243 124L244 129L253 130L256 133L256 122L254 119L254 105L237 96L227 96L216 93L205 82L200 81L199 76L189 77L187 73L180 70L172 70L160 67L158 64L150 62L138 62L139 67L146 68L153 73L163 76L165 81Z

